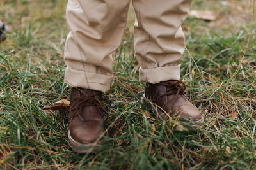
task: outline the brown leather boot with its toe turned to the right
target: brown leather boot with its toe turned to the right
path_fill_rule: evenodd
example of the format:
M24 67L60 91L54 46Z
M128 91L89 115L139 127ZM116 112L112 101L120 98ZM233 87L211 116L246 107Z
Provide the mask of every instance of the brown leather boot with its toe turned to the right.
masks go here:
M147 83L143 102L156 113L157 117L180 116L184 120L204 122L204 117L184 94L186 85L182 81L164 81L157 84Z

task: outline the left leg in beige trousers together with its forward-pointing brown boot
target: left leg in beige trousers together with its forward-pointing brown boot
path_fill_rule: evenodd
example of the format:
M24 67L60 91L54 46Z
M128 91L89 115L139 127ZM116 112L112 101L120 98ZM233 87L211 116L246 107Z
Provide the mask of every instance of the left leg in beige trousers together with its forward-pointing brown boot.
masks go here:
M68 143L88 152L104 131L102 92L110 89L114 52L122 42L130 0L69 0L65 82L72 86Z

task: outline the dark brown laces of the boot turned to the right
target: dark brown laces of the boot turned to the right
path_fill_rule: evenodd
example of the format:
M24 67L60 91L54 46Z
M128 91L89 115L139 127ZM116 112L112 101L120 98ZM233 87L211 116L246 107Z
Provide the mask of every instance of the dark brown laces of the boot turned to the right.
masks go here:
M168 90L166 90L166 93L160 94L161 97L168 96L171 94L175 94L169 113L172 111L172 108L174 106L174 103L178 97L178 94L186 94L186 84L182 81L165 81L162 83L159 83L159 85L164 85L165 87L169 87Z

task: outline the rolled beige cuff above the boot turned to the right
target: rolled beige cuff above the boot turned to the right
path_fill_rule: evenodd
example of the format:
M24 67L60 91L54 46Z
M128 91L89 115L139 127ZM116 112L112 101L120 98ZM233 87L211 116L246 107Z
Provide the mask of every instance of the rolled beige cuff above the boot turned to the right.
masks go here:
M154 69L143 69L140 67L140 82L156 84L168 80L180 80L180 64Z

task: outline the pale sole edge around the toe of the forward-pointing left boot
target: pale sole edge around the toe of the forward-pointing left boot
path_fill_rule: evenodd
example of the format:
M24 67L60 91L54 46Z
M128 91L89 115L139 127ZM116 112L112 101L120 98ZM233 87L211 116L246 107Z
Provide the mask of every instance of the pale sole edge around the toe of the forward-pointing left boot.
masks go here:
M74 152L77 153L93 153L95 152L95 146L101 146L101 143L92 143L92 144L83 144L83 143L79 143L77 142L75 139L72 138L72 136L70 135L70 131L68 131L68 145L72 148L72 150ZM95 147L92 149L92 147ZM97 147L98 148L98 147Z

